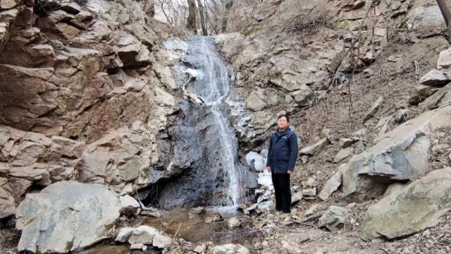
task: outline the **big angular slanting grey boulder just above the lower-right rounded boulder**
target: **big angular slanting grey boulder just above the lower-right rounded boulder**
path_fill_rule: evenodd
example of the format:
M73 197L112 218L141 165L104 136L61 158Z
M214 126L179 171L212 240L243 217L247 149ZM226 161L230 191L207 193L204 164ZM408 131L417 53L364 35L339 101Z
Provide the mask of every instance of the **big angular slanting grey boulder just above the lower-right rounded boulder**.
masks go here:
M378 197L394 181L416 179L428 171L431 140L437 128L451 126L451 107L409 120L385 133L381 140L342 166L342 191L347 200ZM329 179L320 197L339 186L339 174Z

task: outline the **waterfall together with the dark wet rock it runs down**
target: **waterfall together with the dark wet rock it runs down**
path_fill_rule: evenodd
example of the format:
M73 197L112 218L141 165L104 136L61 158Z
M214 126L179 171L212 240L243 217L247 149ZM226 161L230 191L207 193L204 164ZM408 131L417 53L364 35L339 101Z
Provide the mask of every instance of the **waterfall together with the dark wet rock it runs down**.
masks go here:
M158 184L155 205L236 206L246 202L247 191L257 185L256 174L238 162L237 138L230 125L230 71L210 37L194 36L174 68L177 83L202 98L199 105L180 102L180 113L168 119L171 147L163 164L178 171ZM191 78L190 78L191 77ZM189 80L189 82L187 82ZM164 145L162 145L164 147ZM163 151L163 154L165 151Z

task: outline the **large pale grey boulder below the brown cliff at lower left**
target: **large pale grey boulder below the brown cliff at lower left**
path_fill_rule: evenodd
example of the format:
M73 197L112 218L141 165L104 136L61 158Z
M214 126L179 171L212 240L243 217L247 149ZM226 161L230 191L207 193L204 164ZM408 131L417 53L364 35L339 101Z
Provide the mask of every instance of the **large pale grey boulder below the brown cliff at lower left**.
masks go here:
M16 212L22 230L19 251L68 253L107 237L120 216L121 201L100 184L59 181L27 194Z

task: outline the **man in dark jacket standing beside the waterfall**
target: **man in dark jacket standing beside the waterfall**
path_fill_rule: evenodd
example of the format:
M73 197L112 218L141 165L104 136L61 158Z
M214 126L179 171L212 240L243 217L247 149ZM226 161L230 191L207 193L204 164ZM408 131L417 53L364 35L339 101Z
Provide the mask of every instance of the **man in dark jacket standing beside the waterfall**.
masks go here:
M276 193L276 210L290 213L290 174L295 169L297 158L297 136L291 131L290 118L281 115L277 120L278 130L271 134L266 170L271 172Z

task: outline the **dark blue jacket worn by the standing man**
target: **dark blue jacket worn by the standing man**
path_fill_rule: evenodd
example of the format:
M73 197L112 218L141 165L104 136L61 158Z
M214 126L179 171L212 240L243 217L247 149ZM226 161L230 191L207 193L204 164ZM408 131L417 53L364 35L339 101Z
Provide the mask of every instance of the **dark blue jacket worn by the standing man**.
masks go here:
M290 128L275 131L269 141L266 167L271 167L274 174L287 174L295 169L297 149L297 136Z

